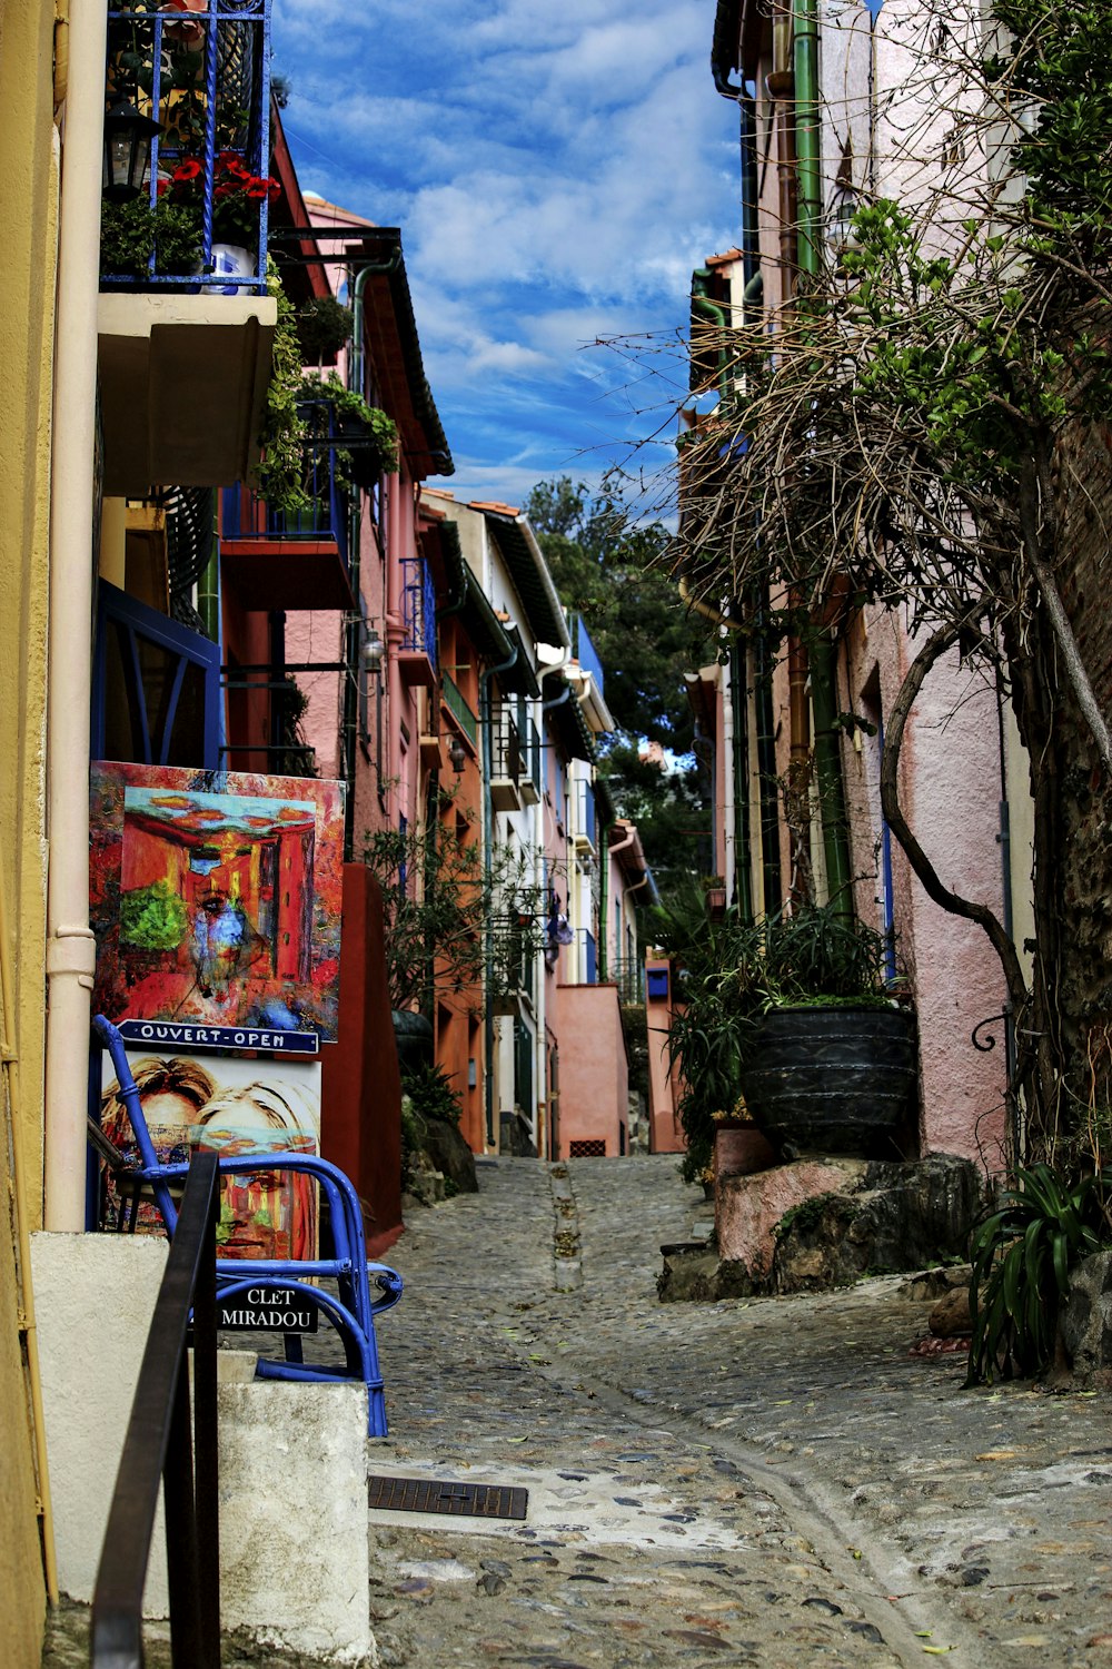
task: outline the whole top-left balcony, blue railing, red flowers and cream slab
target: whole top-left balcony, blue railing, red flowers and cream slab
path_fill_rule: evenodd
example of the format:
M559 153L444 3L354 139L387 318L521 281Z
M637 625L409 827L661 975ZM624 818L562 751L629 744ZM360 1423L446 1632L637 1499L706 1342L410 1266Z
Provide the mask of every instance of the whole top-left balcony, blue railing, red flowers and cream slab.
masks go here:
M277 322L270 0L110 10L105 100L103 491L242 481Z

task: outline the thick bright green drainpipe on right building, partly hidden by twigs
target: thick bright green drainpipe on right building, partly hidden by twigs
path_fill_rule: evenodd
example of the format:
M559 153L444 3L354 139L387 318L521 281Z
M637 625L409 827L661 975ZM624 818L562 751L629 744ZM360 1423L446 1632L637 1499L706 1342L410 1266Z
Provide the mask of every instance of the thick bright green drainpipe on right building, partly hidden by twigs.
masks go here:
M819 155L819 20L817 0L795 0L795 167L799 190L799 269L817 275L822 260L822 162ZM822 816L827 888L835 915L854 915L854 870L845 818L845 786L837 729L837 646L834 634L812 626L810 701L815 716L815 781Z

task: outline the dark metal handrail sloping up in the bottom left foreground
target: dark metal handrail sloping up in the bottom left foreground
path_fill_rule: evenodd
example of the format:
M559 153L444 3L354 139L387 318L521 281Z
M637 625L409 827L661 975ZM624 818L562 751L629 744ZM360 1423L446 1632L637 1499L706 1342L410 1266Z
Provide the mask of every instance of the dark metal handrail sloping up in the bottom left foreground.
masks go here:
M143 1586L165 1489L173 1661L220 1666L215 1153L195 1153L138 1372L93 1591L93 1669L142 1669ZM188 1399L193 1317L193 1419Z

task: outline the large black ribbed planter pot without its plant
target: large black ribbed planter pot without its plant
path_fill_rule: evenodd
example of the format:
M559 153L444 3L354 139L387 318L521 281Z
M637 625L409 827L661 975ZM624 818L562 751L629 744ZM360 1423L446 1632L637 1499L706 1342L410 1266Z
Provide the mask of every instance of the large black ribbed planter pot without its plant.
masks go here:
M902 1008L774 1008L742 1092L782 1157L895 1158L915 1077L915 1018Z

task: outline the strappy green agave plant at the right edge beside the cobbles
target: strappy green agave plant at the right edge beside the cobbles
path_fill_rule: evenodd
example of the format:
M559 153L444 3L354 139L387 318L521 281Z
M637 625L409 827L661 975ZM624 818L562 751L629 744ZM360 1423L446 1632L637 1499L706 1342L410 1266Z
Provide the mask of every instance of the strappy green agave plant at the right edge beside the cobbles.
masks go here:
M1017 1172L1015 1183L970 1240L967 1385L1050 1365L1069 1272L1109 1238L1104 1202L1112 1168L1067 1183L1049 1165L1032 1165Z

